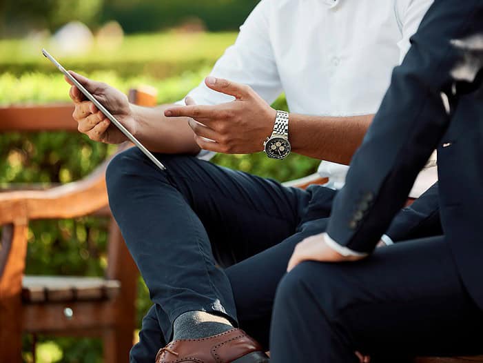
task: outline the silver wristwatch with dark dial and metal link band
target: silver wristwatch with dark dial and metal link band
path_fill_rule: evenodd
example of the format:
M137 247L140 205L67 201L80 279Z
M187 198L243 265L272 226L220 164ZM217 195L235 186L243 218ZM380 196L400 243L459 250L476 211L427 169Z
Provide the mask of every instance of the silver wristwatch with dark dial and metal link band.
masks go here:
M289 143L289 112L277 111L274 131L263 143L267 157L271 159L285 159L289 156L291 146Z

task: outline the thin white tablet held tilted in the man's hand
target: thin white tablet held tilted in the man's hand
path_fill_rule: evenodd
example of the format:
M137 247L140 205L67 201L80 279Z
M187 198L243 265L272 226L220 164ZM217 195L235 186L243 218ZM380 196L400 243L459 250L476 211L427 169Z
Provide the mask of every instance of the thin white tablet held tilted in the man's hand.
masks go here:
M61 66L61 64L58 61L56 61L54 59L54 57L52 57L52 55L50 55L47 52L47 50L42 49L42 54L47 59L49 59L52 63L54 63L54 65L57 68L59 68L59 70L65 75L65 77L68 77L68 79L70 79L72 84L74 84L77 88L79 88L79 90L83 93L83 95L85 95L85 97L88 97L89 101L92 101L92 103L97 107L97 109L100 110L101 112L103 112L105 117L110 119L112 124L114 124L117 128L119 128L119 130L121 130L121 133L126 135L126 137L128 139L130 139L134 143L134 145L136 145L147 157L149 157L151 159L151 161L154 164L156 164L156 166L158 166L158 168L160 168L161 170L166 169L165 166L163 164L161 164L161 162L158 159L156 159L156 157L154 157L154 155L152 155L150 150L147 150L147 148L145 148L145 146L143 144L141 144L141 142L139 142L138 139L136 139L136 137L134 137L132 135L132 133L130 133L127 130L127 128L125 128L123 126L123 124L121 124L121 122L117 121L116 118L111 115L111 112L109 112L104 106L102 106L101 103L99 101L97 101L97 99L93 95L91 95L90 92L84 88L84 86L82 86L79 83L79 81L77 81L74 77L72 77L72 75L67 70L65 70L65 68L63 68L63 66Z

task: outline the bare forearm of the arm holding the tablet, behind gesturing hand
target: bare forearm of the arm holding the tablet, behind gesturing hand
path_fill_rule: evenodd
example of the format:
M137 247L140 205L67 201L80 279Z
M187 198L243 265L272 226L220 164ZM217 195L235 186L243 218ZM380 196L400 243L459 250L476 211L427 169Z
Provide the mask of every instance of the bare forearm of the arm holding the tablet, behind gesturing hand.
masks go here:
M188 117L165 117L164 110L169 106L172 105L154 108L131 105L136 120L134 134L154 153L196 155L200 148L188 126Z

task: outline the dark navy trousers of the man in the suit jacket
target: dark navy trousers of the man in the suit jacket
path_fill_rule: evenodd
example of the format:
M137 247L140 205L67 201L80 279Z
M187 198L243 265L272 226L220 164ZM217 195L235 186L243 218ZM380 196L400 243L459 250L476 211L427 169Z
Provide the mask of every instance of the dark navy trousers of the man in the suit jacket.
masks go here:
M360 262L302 262L282 278L271 362L412 362L405 355L483 353L483 312L445 237L380 248Z

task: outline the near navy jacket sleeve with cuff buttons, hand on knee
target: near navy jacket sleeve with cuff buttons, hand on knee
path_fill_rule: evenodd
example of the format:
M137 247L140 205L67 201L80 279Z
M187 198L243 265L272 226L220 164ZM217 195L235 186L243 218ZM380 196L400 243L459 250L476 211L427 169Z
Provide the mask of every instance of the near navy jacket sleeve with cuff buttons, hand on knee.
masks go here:
M335 199L327 233L338 244L373 251L404 205L460 95L481 83L482 57L467 48L481 41L481 19L480 0L438 0L427 12Z

